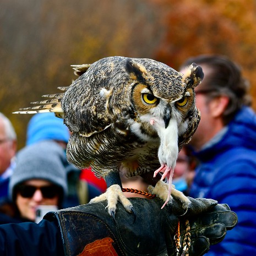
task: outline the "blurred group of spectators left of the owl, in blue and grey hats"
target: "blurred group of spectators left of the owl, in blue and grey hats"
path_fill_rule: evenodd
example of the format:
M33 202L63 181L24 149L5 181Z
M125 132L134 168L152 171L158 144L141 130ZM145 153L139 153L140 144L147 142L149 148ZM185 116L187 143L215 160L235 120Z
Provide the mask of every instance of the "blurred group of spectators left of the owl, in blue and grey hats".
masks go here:
M47 211L86 204L106 189L103 179L78 170L66 159L70 133L53 113L29 121L26 145L17 152L17 137L0 115L0 223L40 221ZM39 215L39 216L37 216Z

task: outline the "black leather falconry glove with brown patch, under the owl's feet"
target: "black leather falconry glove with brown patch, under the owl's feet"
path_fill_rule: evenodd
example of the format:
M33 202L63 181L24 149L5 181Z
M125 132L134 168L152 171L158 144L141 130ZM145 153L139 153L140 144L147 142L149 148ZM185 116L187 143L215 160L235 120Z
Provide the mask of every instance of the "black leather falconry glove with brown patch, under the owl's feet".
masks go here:
M187 213L175 198L162 210L159 198L129 200L137 214L135 221L120 203L113 219L106 209L107 201L58 210L44 218L58 222L68 256L181 255L183 251L183 255L200 256L210 244L221 242L237 223L237 215L227 205L212 199L189 198Z

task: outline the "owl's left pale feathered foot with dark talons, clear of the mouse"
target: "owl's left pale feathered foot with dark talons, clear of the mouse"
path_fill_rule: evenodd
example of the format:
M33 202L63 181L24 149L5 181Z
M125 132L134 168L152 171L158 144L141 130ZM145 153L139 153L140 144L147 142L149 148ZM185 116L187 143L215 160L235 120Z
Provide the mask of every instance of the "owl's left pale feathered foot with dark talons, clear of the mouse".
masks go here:
M134 221L136 218L135 211L133 208L132 203L127 199L127 197L123 194L122 189L119 185L114 184L110 186L105 193L99 195L99 197L95 197L90 200L89 203L97 203L100 201L107 200L108 213L113 217L115 220L115 213L116 213L116 205L117 201L119 200L124 208L129 212L134 214Z

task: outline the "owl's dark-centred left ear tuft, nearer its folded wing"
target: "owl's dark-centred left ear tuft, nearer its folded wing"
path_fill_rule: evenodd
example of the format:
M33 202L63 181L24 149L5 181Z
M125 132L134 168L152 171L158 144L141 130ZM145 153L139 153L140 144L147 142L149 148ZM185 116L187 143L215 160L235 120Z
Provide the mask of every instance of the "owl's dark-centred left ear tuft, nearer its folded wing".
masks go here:
M137 79L140 83L145 83L145 80L148 77L146 68L130 58L126 61L126 70L130 74L131 78Z

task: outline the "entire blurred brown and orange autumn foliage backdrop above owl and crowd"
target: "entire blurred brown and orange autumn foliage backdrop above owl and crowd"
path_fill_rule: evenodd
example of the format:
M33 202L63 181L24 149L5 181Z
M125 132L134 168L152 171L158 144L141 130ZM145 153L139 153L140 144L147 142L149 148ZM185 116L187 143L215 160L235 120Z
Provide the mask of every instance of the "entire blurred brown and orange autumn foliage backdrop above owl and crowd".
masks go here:
M1 0L0 111L21 148L31 116L13 111L69 85L70 64L115 55L178 69L190 56L224 54L254 85L255 13L254 0Z

